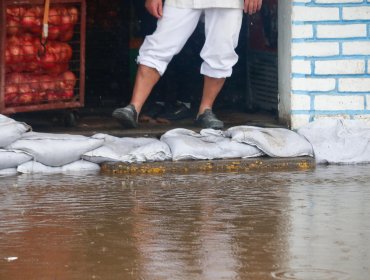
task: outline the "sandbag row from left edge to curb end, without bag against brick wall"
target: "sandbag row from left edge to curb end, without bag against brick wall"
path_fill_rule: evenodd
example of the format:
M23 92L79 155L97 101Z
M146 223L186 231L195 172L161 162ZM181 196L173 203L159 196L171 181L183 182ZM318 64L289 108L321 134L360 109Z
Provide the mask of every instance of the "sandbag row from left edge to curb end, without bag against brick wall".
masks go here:
M99 170L104 162L161 162L312 156L312 147L288 129L239 126L200 133L177 128L161 139L91 137L32 132L24 124L0 115L0 175L4 173L63 173Z

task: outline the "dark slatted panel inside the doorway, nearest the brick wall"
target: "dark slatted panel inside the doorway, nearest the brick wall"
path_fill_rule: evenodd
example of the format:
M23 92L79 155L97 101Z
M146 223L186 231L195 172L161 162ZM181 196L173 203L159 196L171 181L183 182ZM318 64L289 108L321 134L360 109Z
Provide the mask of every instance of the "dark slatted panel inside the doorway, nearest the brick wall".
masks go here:
M278 111L278 1L264 0L248 20L247 107Z

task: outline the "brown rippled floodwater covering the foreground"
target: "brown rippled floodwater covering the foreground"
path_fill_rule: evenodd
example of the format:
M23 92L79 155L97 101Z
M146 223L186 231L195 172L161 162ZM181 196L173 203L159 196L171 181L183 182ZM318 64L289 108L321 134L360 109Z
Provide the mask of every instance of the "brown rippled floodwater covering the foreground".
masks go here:
M0 178L0 279L369 279L370 166Z

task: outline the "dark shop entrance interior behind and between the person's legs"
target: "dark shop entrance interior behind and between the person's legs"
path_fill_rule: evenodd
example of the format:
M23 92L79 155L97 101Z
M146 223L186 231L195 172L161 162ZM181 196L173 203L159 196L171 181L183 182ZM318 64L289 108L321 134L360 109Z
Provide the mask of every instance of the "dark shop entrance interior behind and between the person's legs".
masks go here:
M110 109L125 105L131 96L138 48L155 29L145 1L92 0L87 6L86 106ZM192 118L200 101L202 77L199 52L204 41L199 24L155 87L144 113L176 121ZM277 0L265 0L261 12L245 16L237 52L239 62L222 90L215 110L259 114L277 119ZM187 106L189 110L184 107ZM168 109L170 108L170 109ZM171 112L172 110L172 112ZM241 117L243 119L243 117Z

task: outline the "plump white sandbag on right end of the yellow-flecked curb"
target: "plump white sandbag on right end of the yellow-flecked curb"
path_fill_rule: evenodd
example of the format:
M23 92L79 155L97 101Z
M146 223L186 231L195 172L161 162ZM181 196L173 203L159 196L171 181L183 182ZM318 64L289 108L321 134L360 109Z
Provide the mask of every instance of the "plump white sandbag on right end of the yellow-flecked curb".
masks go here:
M313 156L311 144L285 128L235 126L225 131L225 135L234 141L256 146L270 157Z

